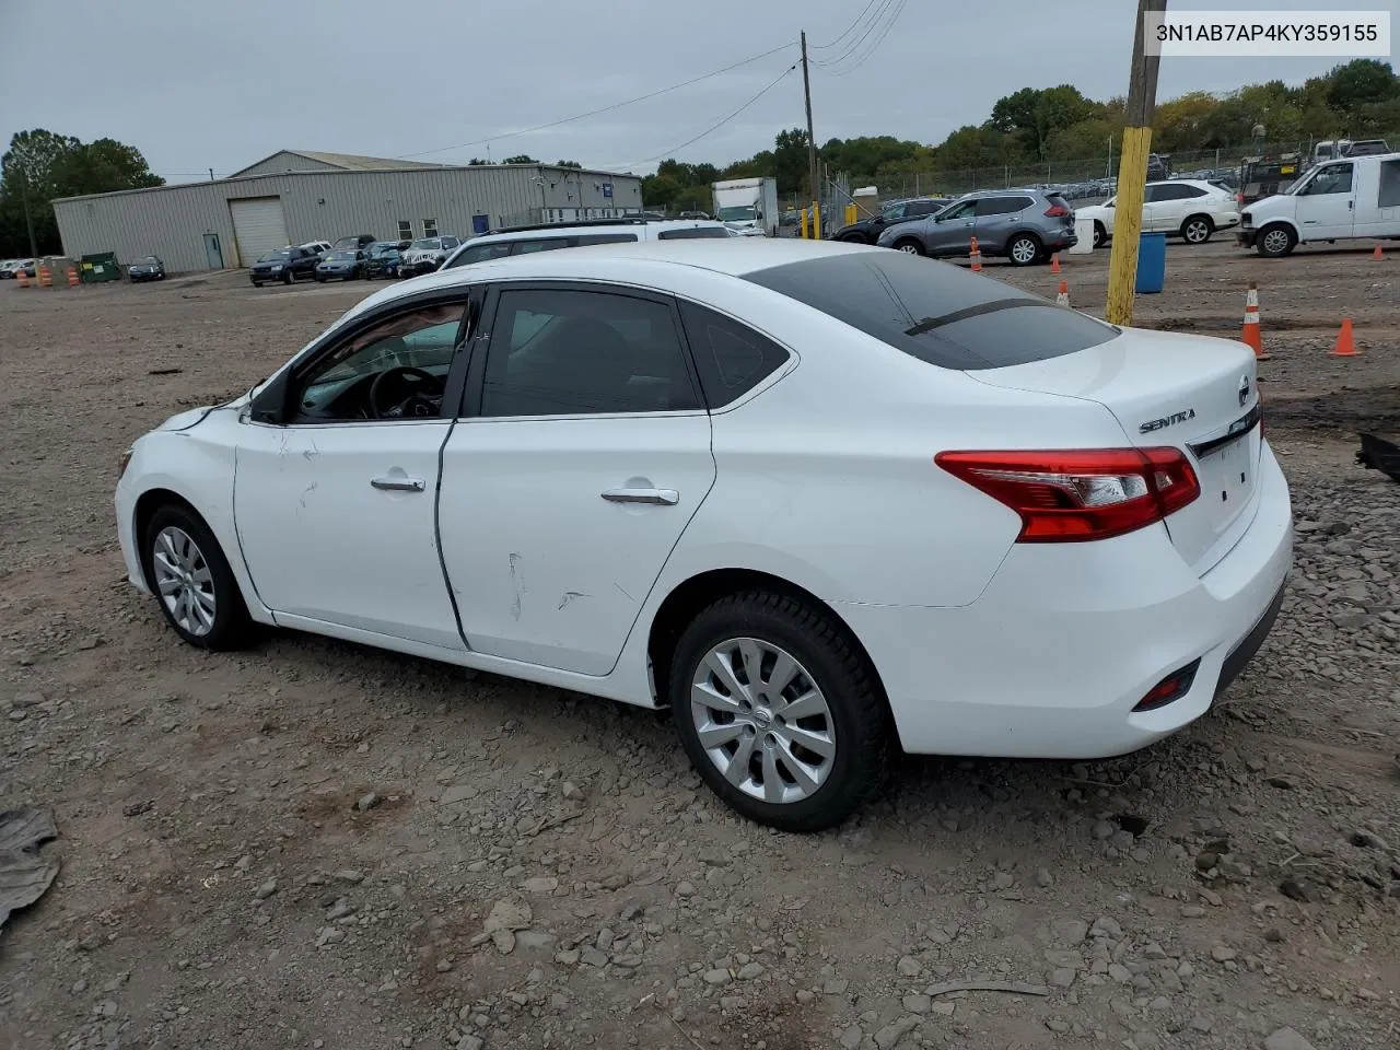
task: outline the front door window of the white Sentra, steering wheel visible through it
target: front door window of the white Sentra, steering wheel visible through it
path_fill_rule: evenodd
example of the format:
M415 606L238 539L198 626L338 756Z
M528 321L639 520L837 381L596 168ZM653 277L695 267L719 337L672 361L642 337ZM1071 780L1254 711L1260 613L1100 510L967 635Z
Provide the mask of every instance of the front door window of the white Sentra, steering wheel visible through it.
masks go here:
M463 312L463 302L420 307L351 336L300 377L293 421L438 416Z

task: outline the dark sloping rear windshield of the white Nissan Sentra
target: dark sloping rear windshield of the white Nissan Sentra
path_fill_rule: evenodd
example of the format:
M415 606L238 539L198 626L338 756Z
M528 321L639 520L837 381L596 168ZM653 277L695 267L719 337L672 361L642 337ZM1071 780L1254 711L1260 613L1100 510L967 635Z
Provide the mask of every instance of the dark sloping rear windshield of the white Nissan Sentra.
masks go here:
M1119 329L951 263L851 252L746 280L804 302L939 368L1005 368L1072 354Z

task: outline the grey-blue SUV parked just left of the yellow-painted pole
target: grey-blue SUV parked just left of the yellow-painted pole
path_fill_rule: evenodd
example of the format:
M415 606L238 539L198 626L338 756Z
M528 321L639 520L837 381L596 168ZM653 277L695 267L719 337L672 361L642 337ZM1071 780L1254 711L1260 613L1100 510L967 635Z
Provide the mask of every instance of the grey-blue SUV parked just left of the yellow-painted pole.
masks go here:
M967 255L973 237L983 255L1015 266L1044 262L1079 239L1074 209L1058 193L1005 189L969 193L928 218L892 225L876 244L937 259Z

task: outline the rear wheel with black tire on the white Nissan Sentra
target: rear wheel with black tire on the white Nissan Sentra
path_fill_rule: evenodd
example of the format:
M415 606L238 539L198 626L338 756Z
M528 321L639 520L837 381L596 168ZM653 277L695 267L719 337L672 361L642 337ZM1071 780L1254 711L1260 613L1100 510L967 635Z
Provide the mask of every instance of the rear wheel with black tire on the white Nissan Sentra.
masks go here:
M669 696L696 773L750 820L819 832L879 788L883 692L847 631L813 603L771 591L720 599L682 633Z

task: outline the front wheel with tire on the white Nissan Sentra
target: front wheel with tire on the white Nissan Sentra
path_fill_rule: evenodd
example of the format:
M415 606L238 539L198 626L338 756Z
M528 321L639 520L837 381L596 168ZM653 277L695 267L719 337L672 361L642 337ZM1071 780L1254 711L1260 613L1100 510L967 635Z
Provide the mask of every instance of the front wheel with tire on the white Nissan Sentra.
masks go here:
M151 515L141 539L146 580L165 622L199 648L242 648L253 622L228 559L203 519L179 504Z

